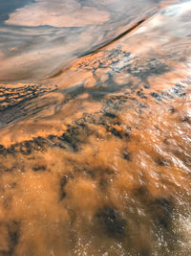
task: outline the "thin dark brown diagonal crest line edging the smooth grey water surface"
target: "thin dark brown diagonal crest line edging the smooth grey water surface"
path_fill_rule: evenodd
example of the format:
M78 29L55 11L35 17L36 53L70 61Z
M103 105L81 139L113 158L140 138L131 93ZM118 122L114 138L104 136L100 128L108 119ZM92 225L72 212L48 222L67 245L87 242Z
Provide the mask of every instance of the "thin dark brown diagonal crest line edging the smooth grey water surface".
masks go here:
M106 42L104 43L103 45L97 47L96 49L90 51L90 52L87 52L87 53L84 53L82 54L81 56L79 56L78 58L83 58L83 57L86 57L86 56L90 56L90 55L94 55L96 54L98 51L102 50L103 48L107 47L108 45L116 42L117 40L119 40L120 38L122 38L123 36L125 35L128 35L130 32L132 32L133 30L137 29L139 27L140 24L142 24L145 20L147 19L147 16L140 19L136 24L134 24L131 28L129 28L128 30L126 30L125 32L121 33L120 35L117 35L114 39L110 40L109 42ZM73 65L73 64L72 64ZM60 76L62 73L64 73L65 71L69 70L72 65L66 67L65 69L62 69L60 71L58 71L56 74L54 74L53 76L51 77L48 77L46 78L45 80L49 80L49 79L54 79L58 76Z

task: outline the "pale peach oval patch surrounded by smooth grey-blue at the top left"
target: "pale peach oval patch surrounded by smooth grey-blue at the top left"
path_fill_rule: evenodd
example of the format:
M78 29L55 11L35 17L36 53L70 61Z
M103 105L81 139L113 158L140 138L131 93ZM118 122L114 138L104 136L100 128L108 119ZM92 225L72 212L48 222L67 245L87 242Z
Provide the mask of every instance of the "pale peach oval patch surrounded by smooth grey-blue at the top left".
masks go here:
M37 0L17 9L6 21L10 25L53 27L80 27L101 24L109 20L110 14L95 7L81 6L75 0Z

